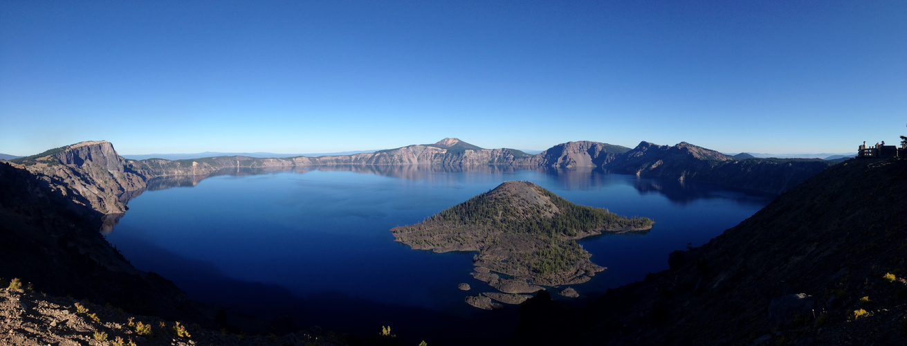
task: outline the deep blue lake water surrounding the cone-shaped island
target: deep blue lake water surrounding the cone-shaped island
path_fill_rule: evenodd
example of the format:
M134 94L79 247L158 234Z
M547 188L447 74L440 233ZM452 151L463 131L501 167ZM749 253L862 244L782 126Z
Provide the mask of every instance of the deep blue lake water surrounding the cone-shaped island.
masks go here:
M608 268L573 286L586 298L667 269L669 252L707 242L771 201L708 184L594 170L340 167L239 174L153 181L157 190L133 199L107 240L137 268L160 273L195 300L341 329L395 322L396 331L413 335L433 332L409 327L414 321L515 319L515 308L486 312L463 302L493 292L469 275L472 253L414 251L388 231L504 181L529 181L573 203L656 221L650 232L580 241L592 262ZM473 289L460 291L460 282Z

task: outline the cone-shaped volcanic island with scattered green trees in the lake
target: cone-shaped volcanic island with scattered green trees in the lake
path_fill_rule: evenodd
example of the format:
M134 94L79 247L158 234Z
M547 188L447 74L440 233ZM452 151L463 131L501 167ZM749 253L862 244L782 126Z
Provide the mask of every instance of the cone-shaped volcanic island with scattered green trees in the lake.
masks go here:
M454 205L424 222L391 229L397 242L415 250L478 252L473 277L500 292L468 297L491 309L520 303L544 286L590 280L604 268L576 242L602 232L647 231L654 224L607 209L571 203L529 182L504 182L492 191ZM503 278L502 278L503 276Z

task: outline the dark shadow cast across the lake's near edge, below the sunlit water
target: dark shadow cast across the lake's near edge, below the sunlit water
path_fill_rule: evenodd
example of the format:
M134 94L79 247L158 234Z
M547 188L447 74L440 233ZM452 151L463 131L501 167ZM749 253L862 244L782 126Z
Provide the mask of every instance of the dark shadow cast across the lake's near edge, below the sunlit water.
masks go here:
M131 237L122 237L119 247L141 247L148 258L156 259L155 266L161 268L157 273L175 282L190 299L253 315L283 332L318 326L326 331L369 337L381 331L382 326L391 326L398 340L406 345L419 341L432 345L505 344L510 342L518 321L515 306L501 311L467 307L474 311L463 316L375 302L342 292L298 297L276 284L229 278L210 262L187 259ZM142 263L134 264L142 269Z

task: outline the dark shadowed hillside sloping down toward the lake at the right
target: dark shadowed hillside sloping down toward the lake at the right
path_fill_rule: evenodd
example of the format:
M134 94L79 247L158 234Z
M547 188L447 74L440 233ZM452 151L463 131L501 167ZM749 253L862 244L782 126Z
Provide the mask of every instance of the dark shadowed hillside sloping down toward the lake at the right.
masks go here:
M524 302L517 344L902 344L907 160L835 165L585 308Z

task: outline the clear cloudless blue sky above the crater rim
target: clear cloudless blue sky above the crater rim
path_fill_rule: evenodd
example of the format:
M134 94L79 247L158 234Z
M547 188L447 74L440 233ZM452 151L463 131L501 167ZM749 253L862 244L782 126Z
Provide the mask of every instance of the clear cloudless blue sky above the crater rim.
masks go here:
M0 153L845 153L905 124L902 0L0 0Z

